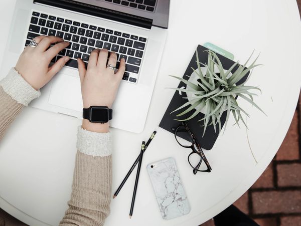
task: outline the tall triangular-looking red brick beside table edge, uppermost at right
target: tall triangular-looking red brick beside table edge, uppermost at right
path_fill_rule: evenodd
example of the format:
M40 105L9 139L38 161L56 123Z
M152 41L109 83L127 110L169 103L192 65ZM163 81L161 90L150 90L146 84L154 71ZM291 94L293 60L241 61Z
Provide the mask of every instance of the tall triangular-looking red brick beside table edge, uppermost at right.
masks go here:
M299 159L298 115L295 111L287 134L277 152L277 160Z

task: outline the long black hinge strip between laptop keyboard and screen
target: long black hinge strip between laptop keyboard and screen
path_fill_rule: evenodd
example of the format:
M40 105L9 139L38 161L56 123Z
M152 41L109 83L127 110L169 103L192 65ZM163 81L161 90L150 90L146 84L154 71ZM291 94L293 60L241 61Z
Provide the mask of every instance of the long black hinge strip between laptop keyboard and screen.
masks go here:
M65 10L75 11L82 14L91 15L111 21L125 23L141 28L150 29L153 25L153 20L143 18L123 12L110 10L90 4L80 3L73 0L34 0L34 3L40 3L52 7L57 7Z

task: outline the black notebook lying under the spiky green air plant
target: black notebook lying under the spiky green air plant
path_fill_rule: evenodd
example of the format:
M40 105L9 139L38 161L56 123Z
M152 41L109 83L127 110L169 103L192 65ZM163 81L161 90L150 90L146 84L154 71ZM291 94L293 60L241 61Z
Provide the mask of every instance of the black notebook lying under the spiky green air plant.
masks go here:
M203 64L207 64L207 61L208 61L208 49L199 45L198 48L197 48L197 51L198 51L198 55L199 55L199 61L200 63L203 63ZM230 59L226 58L226 57L223 57L219 54L218 55L218 58L220 59L222 65L223 65L223 68L225 70L228 70L229 68L231 68L231 66L235 63L233 61L231 61ZM185 74L183 76L184 79L188 80L188 76L190 76L192 73L193 73L193 70L191 69L194 68L194 69L197 69L198 66L197 66L197 62L196 62L197 58L196 58L196 52L194 53L186 71L185 71ZM233 69L232 73L235 72L235 70L238 68L238 65ZM241 84L242 82L244 82L247 77L248 77L249 73L243 77L238 83L237 85ZM178 75L177 75L178 76ZM185 87L186 88L186 84L183 83L183 82L180 82L178 88L181 88L181 87ZM176 110L177 108L179 108L180 106L182 106L183 104L185 104L187 102L187 99L184 99L183 97L187 97L186 96L186 93L182 92L182 95L180 95L179 91L176 91L174 96L173 96L173 99L171 101L171 103L169 104L161 122L160 122L160 127L163 128L163 129L166 129L167 131L170 131L171 133L174 133L174 131L172 130L172 128L177 128L179 125L181 125L181 122L180 121L176 121L175 119L185 119L185 118L188 118L190 115L192 115L195 110L181 116L181 117L177 117L176 115L179 114L180 112L186 110L188 107L190 106L187 106L179 111L176 111L172 114L170 114L171 112L173 112L174 110ZM231 117L232 114L230 114L229 117ZM203 113L199 113L198 115L196 115L194 118L186 121L186 123L188 124L188 127L190 128L190 130L195 134L196 138L198 139L200 145L202 148L206 149L206 150L210 150L212 149L218 135L219 135L219 126L216 125L216 132L214 131L214 128L213 128L213 125L210 125L210 126L207 126L206 128L206 131L205 131L205 134L203 136L203 132L204 132L204 127L201 126L203 125L204 123L202 121L198 122L198 120L202 119L204 117L204 114ZM225 124L225 121L226 121L226 112L223 113L222 117L221 117L221 126L223 127L223 125ZM228 125L229 126L229 125ZM185 134L185 133L184 133ZM185 137L185 135L183 135L184 139L188 140L189 138L188 137Z

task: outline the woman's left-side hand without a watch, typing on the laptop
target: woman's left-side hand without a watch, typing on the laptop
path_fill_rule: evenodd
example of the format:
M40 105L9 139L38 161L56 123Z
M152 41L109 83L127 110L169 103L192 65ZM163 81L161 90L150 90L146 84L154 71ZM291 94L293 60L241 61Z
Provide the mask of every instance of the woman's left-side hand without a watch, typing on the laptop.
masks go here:
M37 47L26 47L16 65L16 70L34 89L39 90L55 76L70 60L62 57L54 65L49 64L61 50L69 46L69 42L54 36L38 36L35 38ZM57 43L50 49L51 44Z

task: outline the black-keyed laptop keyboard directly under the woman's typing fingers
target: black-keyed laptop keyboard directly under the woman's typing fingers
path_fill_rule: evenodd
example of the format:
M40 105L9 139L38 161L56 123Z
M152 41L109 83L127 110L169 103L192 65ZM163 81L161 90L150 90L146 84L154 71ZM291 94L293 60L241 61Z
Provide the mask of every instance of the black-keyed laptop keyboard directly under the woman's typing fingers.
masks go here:
M65 66L77 69L77 58L81 58L87 64L94 49L107 49L117 54L116 68L119 67L120 59L125 59L125 73L122 79L130 83L137 82L147 43L145 37L33 12L25 46L40 35L57 36L70 42L66 49L52 59L53 63L63 56L69 56L70 61Z

